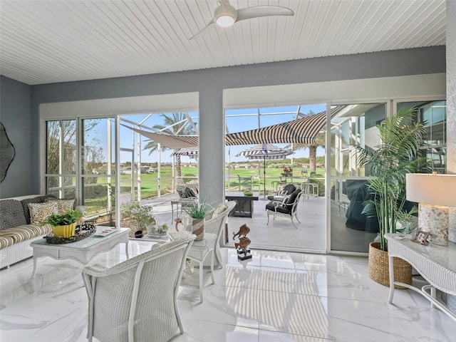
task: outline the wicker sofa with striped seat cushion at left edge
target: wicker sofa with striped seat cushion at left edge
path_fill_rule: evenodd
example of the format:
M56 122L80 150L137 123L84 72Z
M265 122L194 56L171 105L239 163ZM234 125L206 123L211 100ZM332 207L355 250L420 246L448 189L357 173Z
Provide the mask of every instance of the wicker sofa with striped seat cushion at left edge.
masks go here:
M43 203L56 197L29 195L0 199L0 268L33 256L30 243L51 232L48 224L31 224L29 203Z

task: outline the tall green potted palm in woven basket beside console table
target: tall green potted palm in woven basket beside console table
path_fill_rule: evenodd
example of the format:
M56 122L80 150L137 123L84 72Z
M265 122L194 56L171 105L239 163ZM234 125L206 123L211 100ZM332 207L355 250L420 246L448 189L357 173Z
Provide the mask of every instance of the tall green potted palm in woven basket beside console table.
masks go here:
M389 286L388 246L385 233L400 232L400 213L407 211L405 174L427 168L425 157L418 157L423 145L425 128L423 123L413 122L415 111L416 108L401 108L398 113L387 118L384 125L377 125L381 144L375 148L353 146L358 153L358 167L366 167L366 176L370 176L367 188L372 199L364 202L362 213L367 217L376 217L380 231L380 243L372 242L369 245L369 276L385 286ZM403 215L403 219L411 219L413 212L417 212L416 207L409 210L408 215ZM371 255L374 251L375 255ZM379 257L378 254L384 255ZM410 276L405 276L406 281L401 281L405 284L411 284L412 267L409 265L403 269L405 272L409 270ZM396 276L401 271L395 270L394 273Z

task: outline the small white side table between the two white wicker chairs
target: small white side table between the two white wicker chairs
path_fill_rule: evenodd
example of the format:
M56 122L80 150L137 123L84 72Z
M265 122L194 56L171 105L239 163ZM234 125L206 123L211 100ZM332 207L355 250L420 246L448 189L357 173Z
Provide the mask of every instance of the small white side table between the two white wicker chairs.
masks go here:
M214 252L215 244L217 240L217 234L205 233L204 239L195 240L190 247L190 251L187 254L187 258L192 259L198 263L199 268L195 268L195 272L185 278L182 277L180 286L190 287L192 289L199 289L199 302L202 303L202 289L209 276L214 284ZM204 270L204 260L209 257L211 258L211 266L209 270Z

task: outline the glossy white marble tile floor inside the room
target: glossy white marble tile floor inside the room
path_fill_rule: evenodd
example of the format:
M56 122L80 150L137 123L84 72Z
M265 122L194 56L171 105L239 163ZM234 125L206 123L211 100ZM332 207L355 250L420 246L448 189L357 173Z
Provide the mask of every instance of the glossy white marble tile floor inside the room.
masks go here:
M130 241L130 257L150 242ZM173 342L450 342L456 323L419 294L395 292L368 277L367 259L324 254L252 250L238 261L222 248L224 267L215 284L181 288L178 305L185 327ZM123 244L90 264L125 260ZM0 341L86 341L88 301L82 265L73 260L32 259L0 271ZM150 341L153 342L153 341Z

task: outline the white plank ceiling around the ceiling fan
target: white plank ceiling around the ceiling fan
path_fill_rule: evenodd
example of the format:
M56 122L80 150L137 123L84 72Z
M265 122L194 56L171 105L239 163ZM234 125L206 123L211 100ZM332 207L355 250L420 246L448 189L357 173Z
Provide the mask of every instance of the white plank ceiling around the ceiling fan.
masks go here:
M213 26L214 0L0 1L0 74L29 85L445 45L445 0L232 0L294 16Z

